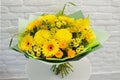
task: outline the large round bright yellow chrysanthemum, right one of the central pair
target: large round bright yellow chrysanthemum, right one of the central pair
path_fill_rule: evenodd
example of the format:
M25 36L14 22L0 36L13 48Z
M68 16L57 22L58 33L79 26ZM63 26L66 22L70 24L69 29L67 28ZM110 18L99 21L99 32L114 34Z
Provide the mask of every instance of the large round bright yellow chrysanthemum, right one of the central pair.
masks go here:
M72 33L68 29L59 29L55 35L56 39L59 41L70 42L72 39Z

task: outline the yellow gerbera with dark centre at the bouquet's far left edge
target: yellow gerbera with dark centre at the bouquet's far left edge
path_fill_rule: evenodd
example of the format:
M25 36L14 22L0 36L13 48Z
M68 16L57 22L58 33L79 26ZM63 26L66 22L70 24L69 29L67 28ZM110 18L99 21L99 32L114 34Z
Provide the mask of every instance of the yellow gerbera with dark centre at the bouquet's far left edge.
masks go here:
M29 34L25 35L19 43L19 48L23 51L27 51L32 46L32 43L33 43L33 37L30 36Z

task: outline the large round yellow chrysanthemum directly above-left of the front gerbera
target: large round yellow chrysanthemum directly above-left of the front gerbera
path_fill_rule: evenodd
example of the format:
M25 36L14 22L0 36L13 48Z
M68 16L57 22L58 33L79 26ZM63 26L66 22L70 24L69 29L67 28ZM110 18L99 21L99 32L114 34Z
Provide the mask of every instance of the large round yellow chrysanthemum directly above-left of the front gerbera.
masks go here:
M48 30L39 30L34 36L34 41L36 44L41 45L45 40L50 38L50 31Z

